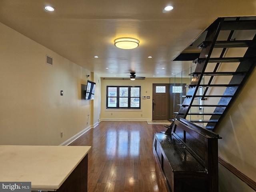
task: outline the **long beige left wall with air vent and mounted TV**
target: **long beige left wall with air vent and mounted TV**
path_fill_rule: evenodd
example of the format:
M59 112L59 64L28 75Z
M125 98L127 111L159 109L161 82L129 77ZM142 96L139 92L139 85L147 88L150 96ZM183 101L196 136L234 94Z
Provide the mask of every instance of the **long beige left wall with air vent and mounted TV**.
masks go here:
M0 42L0 144L59 145L93 124L80 88L89 71L2 23Z

